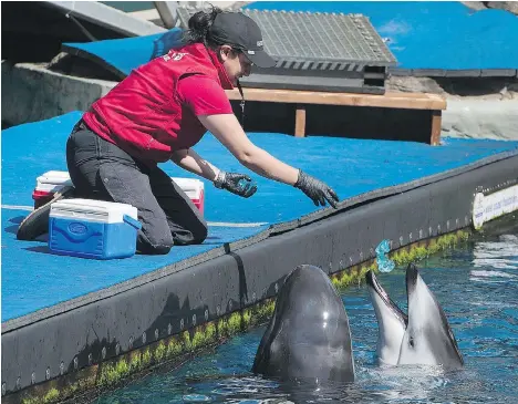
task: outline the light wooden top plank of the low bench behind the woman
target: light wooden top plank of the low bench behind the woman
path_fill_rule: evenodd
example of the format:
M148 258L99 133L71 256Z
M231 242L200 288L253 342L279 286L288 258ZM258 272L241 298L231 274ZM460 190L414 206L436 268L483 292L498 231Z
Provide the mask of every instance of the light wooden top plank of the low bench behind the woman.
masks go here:
M247 101L407 110L446 110L446 100L437 94L387 92L383 95L375 95L269 89L242 89L242 91ZM236 89L227 90L227 95L229 100L241 100Z

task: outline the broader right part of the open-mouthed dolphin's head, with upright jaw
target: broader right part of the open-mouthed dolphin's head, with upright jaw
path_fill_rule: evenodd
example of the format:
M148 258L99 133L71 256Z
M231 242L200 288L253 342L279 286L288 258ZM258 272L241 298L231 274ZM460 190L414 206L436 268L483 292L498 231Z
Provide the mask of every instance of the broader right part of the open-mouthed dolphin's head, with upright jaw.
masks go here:
M408 324L398 364L443 365L458 369L464 359L443 308L414 265L406 269Z

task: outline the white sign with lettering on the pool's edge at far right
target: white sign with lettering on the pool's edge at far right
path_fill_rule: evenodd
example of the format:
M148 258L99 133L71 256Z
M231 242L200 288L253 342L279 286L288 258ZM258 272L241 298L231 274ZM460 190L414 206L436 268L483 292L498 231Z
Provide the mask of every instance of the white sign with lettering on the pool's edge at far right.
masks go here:
M478 193L473 203L473 226L478 230L485 222L516 210L518 210L518 185L489 195Z

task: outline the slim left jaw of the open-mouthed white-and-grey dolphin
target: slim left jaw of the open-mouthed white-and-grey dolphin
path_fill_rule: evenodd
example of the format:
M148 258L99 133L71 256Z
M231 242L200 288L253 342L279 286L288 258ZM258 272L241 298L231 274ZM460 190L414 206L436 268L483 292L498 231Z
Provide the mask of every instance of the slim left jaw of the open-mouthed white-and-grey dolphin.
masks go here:
M397 365L408 318L391 300L374 272L369 271L365 279L379 324L377 360L380 364Z

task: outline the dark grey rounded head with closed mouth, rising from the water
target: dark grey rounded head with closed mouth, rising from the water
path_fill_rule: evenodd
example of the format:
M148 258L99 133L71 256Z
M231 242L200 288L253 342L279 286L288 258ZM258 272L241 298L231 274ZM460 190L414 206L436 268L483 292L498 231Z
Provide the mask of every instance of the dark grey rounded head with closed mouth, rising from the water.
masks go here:
M299 266L286 278L252 371L317 384L354 381L348 314L320 268Z

